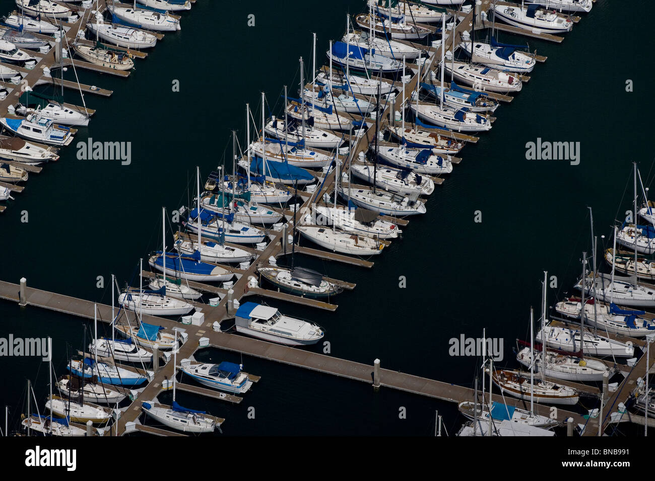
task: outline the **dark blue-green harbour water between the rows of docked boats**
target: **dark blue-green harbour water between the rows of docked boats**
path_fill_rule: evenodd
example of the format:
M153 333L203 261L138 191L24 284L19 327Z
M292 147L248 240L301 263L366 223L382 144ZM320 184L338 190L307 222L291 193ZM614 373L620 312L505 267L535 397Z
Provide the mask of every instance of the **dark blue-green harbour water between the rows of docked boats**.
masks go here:
M13 9L7 0L1 5ZM631 11L643 6L637 1ZM74 143L86 137L131 141L132 164L77 160L73 145L58 163L31 175L26 191L0 218L0 278L18 283L24 276L32 287L109 303L109 276L121 285L129 281L139 258L158 247L160 207L187 204L195 166L206 175L223 162L231 151L230 130L242 139L245 102L257 109L265 90L271 111L279 114L282 86L297 90L298 58L311 60L312 31L320 64L329 39L343 33L345 12L363 9L345 0L329 8L298 0L199 0L183 14L182 30L166 35L130 79L79 72L81 82L114 95L85 97L98 113ZM255 27L246 26L250 13ZM479 337L486 328L487 336L504 340L499 365L514 366L512 346L527 336L542 271L557 276L557 289L549 290L552 305L578 276L582 251L590 250L586 207L594 209L597 234L608 236L612 221L631 208L631 162L639 163L645 181L652 179L648 70L640 49L626 48L628 39L631 46L648 45L648 29L639 22L633 19L626 34L616 27L616 7L599 0L561 45L529 39L531 50L548 61L536 66L510 105L496 111L493 130L461 152L462 164L430 197L428 213L411 219L403 239L375 259L372 270L303 259L329 277L357 283L335 300L337 312L271 304L324 326L336 357L369 364L378 357L385 368L472 386L479 360L451 357L449 339ZM73 78L71 69L66 75ZM627 79L634 92L626 92ZM172 92L173 80L180 92ZM66 100L81 103L74 92L66 92ZM537 137L580 142L580 165L526 160L525 143ZM28 223L20 222L24 210ZM474 222L477 210L481 223ZM602 252L600 244L599 237ZM104 289L96 287L97 276L104 277ZM400 276L407 279L404 289ZM83 345L83 325L88 323L75 317L0 303L0 334L52 336L58 374L67 349ZM197 357L240 361L218 351ZM242 405L178 397L226 418L226 435L430 435L435 410L450 433L463 420L453 404L259 359L242 362L262 376ZM43 406L47 366L28 357L0 363L0 404L11 406L15 425L27 378ZM161 401L169 400L162 395ZM247 418L249 406L255 419ZM406 419L399 419L401 406Z

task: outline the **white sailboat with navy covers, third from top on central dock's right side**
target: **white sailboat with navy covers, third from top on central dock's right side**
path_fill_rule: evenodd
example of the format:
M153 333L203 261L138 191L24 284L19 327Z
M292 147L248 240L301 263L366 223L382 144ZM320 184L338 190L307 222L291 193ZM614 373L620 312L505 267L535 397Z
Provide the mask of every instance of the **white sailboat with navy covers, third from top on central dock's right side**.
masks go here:
M458 47L467 56L472 56L472 62L481 63L486 67L505 72L517 73L529 73L533 71L534 65L536 65L534 56L516 50L517 48L527 48L527 45L498 43L496 37L491 37L491 43L480 41L472 43L468 32L464 32L462 37L464 39ZM473 54L471 54L471 49L473 49Z

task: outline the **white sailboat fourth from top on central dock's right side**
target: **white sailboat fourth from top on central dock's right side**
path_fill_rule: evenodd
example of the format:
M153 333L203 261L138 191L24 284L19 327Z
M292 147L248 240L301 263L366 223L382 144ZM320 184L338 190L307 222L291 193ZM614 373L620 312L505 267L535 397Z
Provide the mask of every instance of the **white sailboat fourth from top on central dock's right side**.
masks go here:
M511 94L521 92L523 82L513 72L505 72L484 65L464 62L446 62L445 71L453 75L455 80L472 86L476 90Z

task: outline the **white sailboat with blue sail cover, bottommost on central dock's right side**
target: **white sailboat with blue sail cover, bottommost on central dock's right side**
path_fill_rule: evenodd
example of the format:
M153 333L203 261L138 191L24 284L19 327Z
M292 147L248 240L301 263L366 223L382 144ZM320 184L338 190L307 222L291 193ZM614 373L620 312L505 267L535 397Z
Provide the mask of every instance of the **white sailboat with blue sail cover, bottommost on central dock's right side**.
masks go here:
M178 330L175 330L176 334ZM212 433L219 427L224 419L211 416L204 411L184 408L175 400L178 374L178 349L173 351L173 404L168 406L159 402L147 401L141 403L141 410L149 418L159 421L165 426L172 427L185 433Z

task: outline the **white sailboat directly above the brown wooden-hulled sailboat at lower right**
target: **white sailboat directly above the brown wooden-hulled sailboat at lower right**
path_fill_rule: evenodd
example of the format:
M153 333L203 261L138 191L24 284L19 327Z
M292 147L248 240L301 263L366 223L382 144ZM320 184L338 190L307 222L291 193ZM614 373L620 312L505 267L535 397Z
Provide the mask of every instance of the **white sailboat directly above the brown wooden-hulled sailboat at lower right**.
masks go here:
M546 286L548 273L544 272L544 281L542 282L542 312L541 321L542 329L546 326ZM584 327L584 320L582 321ZM526 346L516 355L516 360L526 366L533 368L534 372L540 372L543 376L549 378L571 380L571 381L601 381L603 374L609 372L605 363L595 359L584 359L584 351L580 349L579 356L565 355L546 349L546 344L542 343L541 351L533 349L532 346Z

